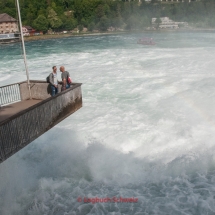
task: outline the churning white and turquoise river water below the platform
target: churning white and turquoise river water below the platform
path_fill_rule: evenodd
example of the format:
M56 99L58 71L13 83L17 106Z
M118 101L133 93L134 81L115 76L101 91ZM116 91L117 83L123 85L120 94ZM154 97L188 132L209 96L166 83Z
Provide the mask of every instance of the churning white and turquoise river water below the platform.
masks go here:
M143 36L157 44L137 44ZM1 215L215 214L214 32L26 49L31 79L65 65L83 83L84 106L0 164ZM0 46L0 85L23 80L20 44ZM84 202L96 197L138 202Z

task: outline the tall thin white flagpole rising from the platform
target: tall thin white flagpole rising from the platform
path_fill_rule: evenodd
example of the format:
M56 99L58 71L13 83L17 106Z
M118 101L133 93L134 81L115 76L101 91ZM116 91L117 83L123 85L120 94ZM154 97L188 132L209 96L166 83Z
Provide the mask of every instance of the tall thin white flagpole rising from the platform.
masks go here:
M30 96L30 99L32 99L31 86L30 86L29 73L28 73L28 65L27 65L26 52L25 52L25 42L24 42L24 37L23 37L23 32L22 32L22 20L21 20L20 8L19 8L19 0L16 0L16 4L17 4L18 16L19 16L19 27L20 27L20 33L21 33L22 50L23 50L23 55L24 55L24 63L25 63L25 71L26 71L26 76L27 76L29 96Z

